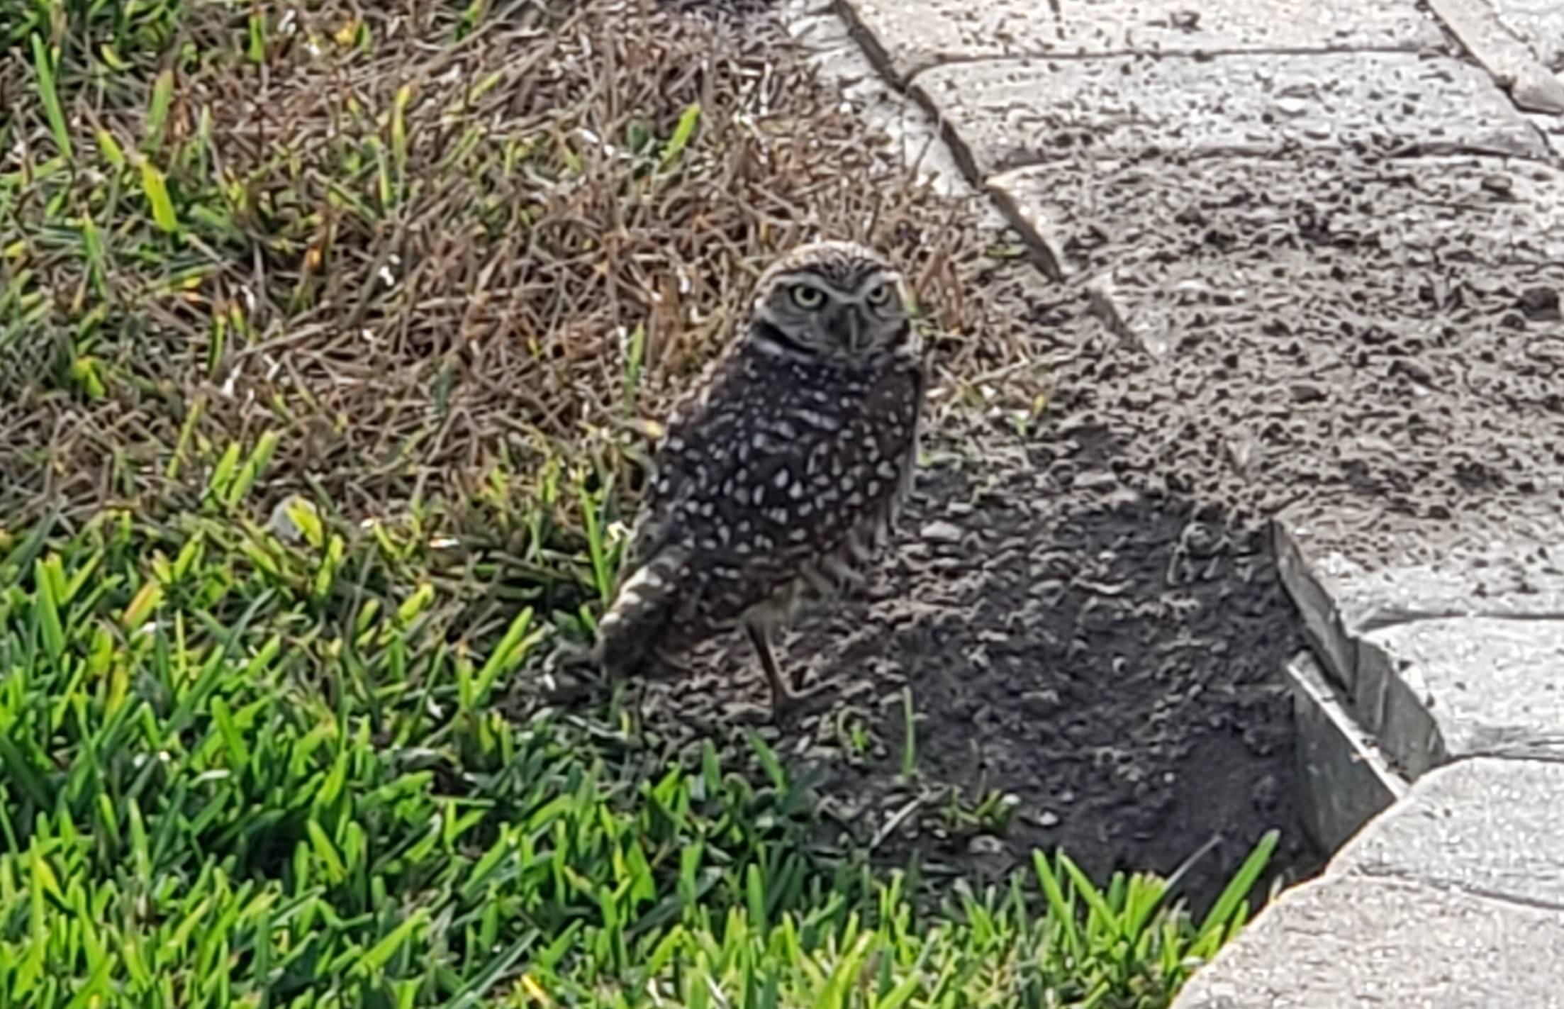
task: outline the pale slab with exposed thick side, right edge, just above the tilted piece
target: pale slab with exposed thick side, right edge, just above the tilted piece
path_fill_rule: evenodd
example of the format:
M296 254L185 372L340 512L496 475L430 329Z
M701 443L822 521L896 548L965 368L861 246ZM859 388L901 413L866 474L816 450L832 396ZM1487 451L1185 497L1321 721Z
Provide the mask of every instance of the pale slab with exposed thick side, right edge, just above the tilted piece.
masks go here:
M1564 759L1564 619L1419 619L1368 632L1353 704L1408 777L1475 754Z

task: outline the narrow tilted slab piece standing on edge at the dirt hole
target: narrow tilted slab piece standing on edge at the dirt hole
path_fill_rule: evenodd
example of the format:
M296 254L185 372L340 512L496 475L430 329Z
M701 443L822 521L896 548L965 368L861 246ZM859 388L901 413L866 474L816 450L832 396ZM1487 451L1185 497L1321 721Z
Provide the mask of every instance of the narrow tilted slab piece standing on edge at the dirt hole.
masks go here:
M1287 663L1298 732L1304 823L1322 851L1336 851L1368 820L1406 795L1373 738L1348 713L1314 655Z

